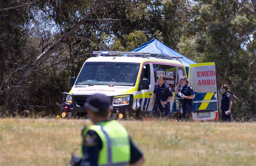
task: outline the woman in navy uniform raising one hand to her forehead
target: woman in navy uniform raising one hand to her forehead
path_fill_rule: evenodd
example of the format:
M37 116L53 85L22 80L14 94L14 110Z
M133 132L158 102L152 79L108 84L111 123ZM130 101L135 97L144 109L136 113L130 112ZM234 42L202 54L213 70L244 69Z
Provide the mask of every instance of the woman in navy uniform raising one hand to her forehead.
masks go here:
M177 86L175 87L174 93L180 95L180 103L183 111L182 120L191 120L191 113L193 111L193 99L195 93L193 87L188 85L189 81L187 77L183 76L179 79ZM181 85L181 88L179 86Z

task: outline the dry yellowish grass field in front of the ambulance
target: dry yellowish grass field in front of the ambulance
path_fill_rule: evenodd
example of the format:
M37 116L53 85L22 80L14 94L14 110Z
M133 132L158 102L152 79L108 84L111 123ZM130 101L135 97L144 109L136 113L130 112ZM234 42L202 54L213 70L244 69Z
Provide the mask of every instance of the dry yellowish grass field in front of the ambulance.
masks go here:
M256 165L256 123L120 121L147 166ZM89 120L0 119L0 165L67 165Z

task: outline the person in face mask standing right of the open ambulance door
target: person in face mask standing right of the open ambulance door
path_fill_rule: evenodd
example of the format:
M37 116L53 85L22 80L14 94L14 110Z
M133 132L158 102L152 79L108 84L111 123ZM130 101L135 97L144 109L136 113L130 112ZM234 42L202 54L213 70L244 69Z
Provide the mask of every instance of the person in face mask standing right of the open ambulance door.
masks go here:
M221 86L221 93L222 93L222 99L221 99L221 120L232 122L231 120L231 107L232 107L232 101L231 101L231 95L227 92L228 86L222 85Z

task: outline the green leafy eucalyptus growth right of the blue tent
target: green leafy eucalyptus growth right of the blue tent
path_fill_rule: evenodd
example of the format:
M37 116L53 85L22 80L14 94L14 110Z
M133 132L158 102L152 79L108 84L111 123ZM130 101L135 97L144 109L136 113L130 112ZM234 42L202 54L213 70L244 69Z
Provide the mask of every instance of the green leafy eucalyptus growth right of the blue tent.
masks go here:
M181 4L193 12L183 12L191 19L186 20L180 53L196 62L215 62L218 87L228 85L233 95L233 116L255 120L255 16L227 0ZM246 4L253 7L250 1Z

